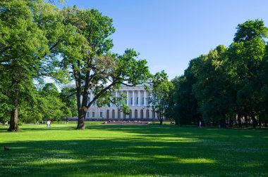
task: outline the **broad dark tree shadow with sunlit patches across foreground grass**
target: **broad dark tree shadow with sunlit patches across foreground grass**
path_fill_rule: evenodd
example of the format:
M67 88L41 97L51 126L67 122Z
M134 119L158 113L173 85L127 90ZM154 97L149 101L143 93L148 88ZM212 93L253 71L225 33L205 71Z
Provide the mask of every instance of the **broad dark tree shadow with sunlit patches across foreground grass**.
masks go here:
M185 133L182 137L173 131L167 133L171 135L167 138L177 138L169 140L157 139L159 132L153 129L137 129L121 131L134 131L138 138L0 143L11 147L11 150L0 153L0 176L267 175L267 159L255 157L267 157L267 151L240 155L230 152L228 143L214 144L217 141L212 139L190 138L193 135L186 130L181 132ZM147 133L156 136L151 139Z

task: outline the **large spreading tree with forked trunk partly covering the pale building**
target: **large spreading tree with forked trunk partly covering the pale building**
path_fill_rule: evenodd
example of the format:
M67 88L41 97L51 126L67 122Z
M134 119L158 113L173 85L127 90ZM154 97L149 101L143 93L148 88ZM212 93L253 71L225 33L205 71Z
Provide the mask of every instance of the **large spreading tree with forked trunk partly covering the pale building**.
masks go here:
M99 11L63 9L65 25L75 32L65 41L62 66L69 70L75 80L78 107L77 129L85 129L87 109L97 101L98 106L116 103L128 111L122 99L114 98L112 91L121 84L134 86L150 76L146 60L137 60L138 53L127 49L123 55L109 53L113 46L109 36L115 32L112 19ZM88 99L93 91L92 100Z

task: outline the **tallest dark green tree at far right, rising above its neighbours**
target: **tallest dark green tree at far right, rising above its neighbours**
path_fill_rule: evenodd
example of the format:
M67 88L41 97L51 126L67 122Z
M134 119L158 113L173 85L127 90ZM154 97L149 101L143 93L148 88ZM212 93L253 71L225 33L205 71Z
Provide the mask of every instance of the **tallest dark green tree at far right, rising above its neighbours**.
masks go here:
M248 117L256 126L256 116L260 117L262 112L260 93L264 87L264 77L261 71L268 28L264 27L262 20L248 20L238 25L237 29L229 46L229 60L233 88L236 90L238 122L241 114L245 118L245 126L248 126Z

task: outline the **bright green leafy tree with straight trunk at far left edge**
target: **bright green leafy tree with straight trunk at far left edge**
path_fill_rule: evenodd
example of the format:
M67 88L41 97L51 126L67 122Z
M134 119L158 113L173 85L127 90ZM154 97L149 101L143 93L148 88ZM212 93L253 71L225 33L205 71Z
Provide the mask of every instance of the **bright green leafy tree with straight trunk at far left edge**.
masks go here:
M8 131L18 131L18 107L30 100L33 79L56 76L56 46L62 35L61 14L43 1L3 0L0 2L0 72L2 94L12 106Z

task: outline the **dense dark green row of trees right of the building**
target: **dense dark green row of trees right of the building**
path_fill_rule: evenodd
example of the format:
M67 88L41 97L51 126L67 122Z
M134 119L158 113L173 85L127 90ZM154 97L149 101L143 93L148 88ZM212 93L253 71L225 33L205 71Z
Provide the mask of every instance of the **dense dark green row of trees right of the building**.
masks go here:
M267 126L268 28L262 20L248 20L236 29L229 47L190 60L172 80L169 116L176 124Z

